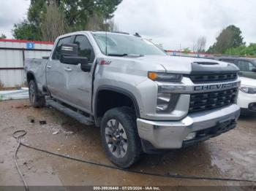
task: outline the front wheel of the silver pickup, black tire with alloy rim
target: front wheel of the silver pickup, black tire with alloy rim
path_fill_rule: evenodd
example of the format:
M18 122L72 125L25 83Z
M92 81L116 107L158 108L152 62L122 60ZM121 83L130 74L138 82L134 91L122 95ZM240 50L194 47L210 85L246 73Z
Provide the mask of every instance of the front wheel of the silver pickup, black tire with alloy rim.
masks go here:
M102 118L100 131L102 146L112 163L120 168L129 168L140 160L142 147L132 109L108 110Z

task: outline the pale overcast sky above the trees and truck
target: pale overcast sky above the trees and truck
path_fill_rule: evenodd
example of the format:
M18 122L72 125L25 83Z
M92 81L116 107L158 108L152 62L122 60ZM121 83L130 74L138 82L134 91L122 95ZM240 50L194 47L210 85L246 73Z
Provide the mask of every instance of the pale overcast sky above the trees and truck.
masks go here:
M11 30L29 7L29 0L0 3L0 34ZM115 12L119 31L152 39L167 50L190 47L201 36L209 47L223 28L241 28L244 41L256 43L255 0L123 0Z

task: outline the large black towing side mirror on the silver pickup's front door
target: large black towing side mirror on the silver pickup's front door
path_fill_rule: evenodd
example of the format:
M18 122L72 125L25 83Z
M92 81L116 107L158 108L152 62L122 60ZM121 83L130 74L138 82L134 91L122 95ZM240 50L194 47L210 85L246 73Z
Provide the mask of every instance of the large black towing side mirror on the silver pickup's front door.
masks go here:
M63 44L61 46L61 63L72 65L88 64L88 58L78 56L78 44Z

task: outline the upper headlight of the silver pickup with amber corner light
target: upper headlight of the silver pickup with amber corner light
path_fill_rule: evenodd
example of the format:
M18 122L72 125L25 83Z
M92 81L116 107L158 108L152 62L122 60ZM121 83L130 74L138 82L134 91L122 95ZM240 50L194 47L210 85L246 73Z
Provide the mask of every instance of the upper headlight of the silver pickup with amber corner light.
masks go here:
M148 72L148 78L158 82L181 82L182 74Z

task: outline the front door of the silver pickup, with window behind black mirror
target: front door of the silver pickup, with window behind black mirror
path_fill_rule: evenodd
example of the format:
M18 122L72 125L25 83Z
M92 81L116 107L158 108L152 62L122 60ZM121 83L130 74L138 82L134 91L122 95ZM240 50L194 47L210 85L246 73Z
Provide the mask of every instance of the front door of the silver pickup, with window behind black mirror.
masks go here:
M86 35L77 35L74 44L78 44L78 56L89 59L89 64L93 64L95 60L94 50ZM72 106L91 113L91 85L92 85L92 69L91 71L82 71L80 64L64 65L65 98Z

